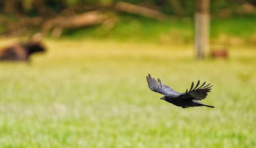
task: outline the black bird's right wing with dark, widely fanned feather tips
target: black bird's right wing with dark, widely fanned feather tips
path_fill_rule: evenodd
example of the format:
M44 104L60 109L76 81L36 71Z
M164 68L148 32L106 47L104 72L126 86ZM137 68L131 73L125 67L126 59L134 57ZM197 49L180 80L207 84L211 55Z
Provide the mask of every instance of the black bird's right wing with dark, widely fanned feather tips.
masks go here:
M207 93L210 92L212 85L210 83L208 85L204 85L205 82L198 87L200 81L198 80L197 85L194 87L194 82L192 82L190 90L180 95L180 99L192 99L192 100L203 100L207 97ZM194 87L194 88L193 88ZM198 88L197 88L198 87Z

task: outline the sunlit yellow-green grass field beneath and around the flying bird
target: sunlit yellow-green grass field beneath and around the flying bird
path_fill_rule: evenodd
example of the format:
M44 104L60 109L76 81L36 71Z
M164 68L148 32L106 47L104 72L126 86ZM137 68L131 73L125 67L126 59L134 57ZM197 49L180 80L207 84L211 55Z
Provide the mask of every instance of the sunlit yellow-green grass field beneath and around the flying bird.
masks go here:
M1 147L255 147L256 50L195 61L193 46L46 41L26 63L0 63ZM150 91L146 75L184 92L211 82L183 109Z

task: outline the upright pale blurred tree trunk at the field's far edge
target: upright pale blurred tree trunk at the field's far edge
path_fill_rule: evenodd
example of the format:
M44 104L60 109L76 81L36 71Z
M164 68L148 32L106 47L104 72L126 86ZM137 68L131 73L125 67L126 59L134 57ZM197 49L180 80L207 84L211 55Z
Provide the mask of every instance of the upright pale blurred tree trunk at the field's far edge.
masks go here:
M209 5L210 0L195 0L195 50L196 58L202 59L209 52Z

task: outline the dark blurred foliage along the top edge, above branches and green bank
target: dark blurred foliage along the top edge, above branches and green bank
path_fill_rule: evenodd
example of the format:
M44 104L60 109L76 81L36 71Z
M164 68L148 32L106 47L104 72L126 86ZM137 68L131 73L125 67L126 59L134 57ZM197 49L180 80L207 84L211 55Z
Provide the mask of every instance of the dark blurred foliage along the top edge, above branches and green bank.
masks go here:
M75 12L107 7L119 2L118 0L2 0L0 1L0 13L18 16L52 16L70 8ZM193 16L194 1L185 0L124 0L123 2L154 8L163 13L175 16ZM211 1L211 14L240 15L243 10L239 7L249 4L255 7L254 0L215 0ZM247 8L245 8L247 9ZM223 12L220 12L223 10Z

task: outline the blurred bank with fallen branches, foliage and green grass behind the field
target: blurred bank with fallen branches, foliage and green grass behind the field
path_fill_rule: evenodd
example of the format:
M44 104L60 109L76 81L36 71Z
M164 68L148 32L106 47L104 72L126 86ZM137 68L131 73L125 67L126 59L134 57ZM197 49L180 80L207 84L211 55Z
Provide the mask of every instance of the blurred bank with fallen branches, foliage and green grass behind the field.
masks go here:
M199 6L203 5L203 6ZM202 9L206 10L198 10ZM214 45L255 45L254 1L0 2L0 35L191 44L197 11L210 15Z

